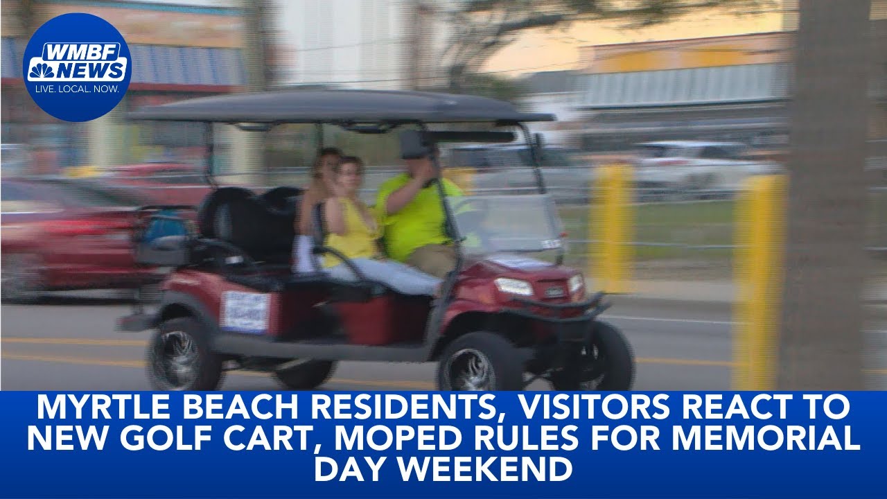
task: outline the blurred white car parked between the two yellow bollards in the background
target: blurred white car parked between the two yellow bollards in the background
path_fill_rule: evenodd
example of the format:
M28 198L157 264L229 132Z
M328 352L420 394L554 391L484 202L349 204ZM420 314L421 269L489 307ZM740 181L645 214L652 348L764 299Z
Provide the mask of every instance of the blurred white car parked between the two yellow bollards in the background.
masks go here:
M781 169L776 162L750 159L748 147L739 142L673 140L638 147L634 179L643 197L725 197L749 176Z

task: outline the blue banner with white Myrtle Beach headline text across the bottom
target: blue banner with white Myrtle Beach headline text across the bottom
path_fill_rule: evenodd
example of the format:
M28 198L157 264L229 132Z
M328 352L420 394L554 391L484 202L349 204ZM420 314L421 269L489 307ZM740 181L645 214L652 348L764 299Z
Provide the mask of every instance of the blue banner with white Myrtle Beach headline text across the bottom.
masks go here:
M4 496L887 496L887 392L0 400Z

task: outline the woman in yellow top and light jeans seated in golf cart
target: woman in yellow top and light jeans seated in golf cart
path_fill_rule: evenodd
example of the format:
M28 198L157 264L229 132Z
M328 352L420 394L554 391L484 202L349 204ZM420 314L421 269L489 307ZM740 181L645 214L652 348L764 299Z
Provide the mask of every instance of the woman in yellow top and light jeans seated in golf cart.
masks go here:
M441 280L427 273L386 259L378 245L379 218L357 198L363 183L364 162L343 156L333 167L333 197L326 200L326 247L337 249L371 281L378 281L404 295L437 295ZM326 272L336 279L357 281L357 276L338 257L326 255Z

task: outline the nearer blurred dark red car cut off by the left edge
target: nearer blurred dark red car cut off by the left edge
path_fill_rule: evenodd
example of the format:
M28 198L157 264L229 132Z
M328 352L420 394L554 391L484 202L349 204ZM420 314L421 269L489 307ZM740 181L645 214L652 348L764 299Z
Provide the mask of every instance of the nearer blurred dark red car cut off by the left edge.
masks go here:
M4 302L33 303L51 290L135 288L153 272L136 267L131 242L135 210L149 198L71 178L10 178L0 189Z

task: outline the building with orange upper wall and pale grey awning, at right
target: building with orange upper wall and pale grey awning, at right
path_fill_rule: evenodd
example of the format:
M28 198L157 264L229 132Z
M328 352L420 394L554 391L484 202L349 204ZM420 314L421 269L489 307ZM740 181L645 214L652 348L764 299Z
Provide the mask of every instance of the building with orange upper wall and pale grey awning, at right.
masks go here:
M887 20L872 22L870 144L887 155ZM792 32L583 47L576 141L592 153L650 140L741 141L765 153L789 138ZM877 151L878 147L881 151Z

